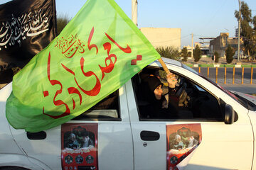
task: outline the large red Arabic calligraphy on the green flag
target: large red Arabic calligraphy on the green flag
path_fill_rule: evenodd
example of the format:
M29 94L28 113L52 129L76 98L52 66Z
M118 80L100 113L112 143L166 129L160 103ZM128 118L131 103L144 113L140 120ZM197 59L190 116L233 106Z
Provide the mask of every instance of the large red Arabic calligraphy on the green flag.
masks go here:
M96 55L98 53L99 48L97 47L96 44L92 43L92 38L93 38L93 34L95 32L95 28L92 27L92 30L90 31L90 35L88 37L87 40L87 48L88 50L92 50L92 48L96 49ZM121 45L119 45L119 43L117 43L113 38L111 38L110 35L108 35L107 33L105 33L105 35L108 38L109 42L105 42L103 44L104 50L107 51L107 57L105 57L105 65L102 66L100 64L98 64L101 72L102 72L102 79L105 78L105 74L112 72L112 70L114 69L114 64L116 64L117 62L117 55L111 53L112 50L112 43L114 45L117 45L117 47L122 50L122 52L125 53L131 53L132 49L129 47L129 45L127 45L127 47L121 47ZM61 38L60 40L57 40L57 43L55 45L55 47L57 47L59 50L61 50L62 54L67 57L67 58L72 58L75 56L75 54L77 54L77 52L80 52L80 54L85 52L85 45L82 44L82 41L78 38L77 35L73 36L71 35L69 38ZM76 55L78 56L78 55ZM141 55L139 55L140 57ZM137 60L139 60L138 55L137 55ZM136 60L136 61L137 61ZM80 77L76 77L75 72L68 68L65 64L61 63L63 69L65 69L65 71L69 72L70 74L73 74L74 77L74 81L75 84L78 86L78 89L76 89L75 87L68 87L68 94L70 95L77 95L79 97L79 104L80 106L82 105L82 94L80 93L80 91L82 91L82 93L86 94L87 96L97 96L100 93L100 89L101 89L101 81L97 75L95 74L95 72L92 71L88 71L85 72L85 59L84 57L80 57L80 70L82 72L82 74L85 77L90 77L90 79L95 79L95 84L92 87L91 90L87 90L85 88L82 88L82 84L79 84L78 79L81 79ZM50 84L52 86L55 86L56 84L60 85L60 89L57 90L55 92L55 96L53 98L53 104L55 106L62 106L64 105L66 110L64 113L61 113L60 115L50 115L48 113L45 113L44 107L43 107L43 114L50 116L51 118L62 118L66 115L70 114L70 108L68 108L68 105L66 103L64 103L62 100L55 100L55 98L62 93L63 91L63 85L60 83L60 81L58 80L52 80L50 79L50 52L49 52L49 56L48 56L48 66L47 66L47 75L48 75L48 80L50 81ZM49 93L48 91L43 91L43 95L44 97L48 96ZM73 110L76 107L76 102L75 99L72 97L72 102L73 102Z

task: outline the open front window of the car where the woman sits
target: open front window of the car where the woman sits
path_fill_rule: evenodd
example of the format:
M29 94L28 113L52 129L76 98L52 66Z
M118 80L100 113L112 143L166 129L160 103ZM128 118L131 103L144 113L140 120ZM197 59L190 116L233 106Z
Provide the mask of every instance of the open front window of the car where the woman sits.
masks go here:
M161 102L157 100L151 102L147 99L154 95L148 95L146 99L142 96L141 91L146 89L142 82L147 75L158 77L163 84L162 95L164 98L161 98ZM222 106L219 104L218 98L210 94L199 84L196 84L196 82L180 74L176 74L176 79L178 80L176 88L169 89L166 73L164 70L159 70L156 67L146 67L132 78L140 120L224 120ZM168 108L161 106L163 101L167 101Z

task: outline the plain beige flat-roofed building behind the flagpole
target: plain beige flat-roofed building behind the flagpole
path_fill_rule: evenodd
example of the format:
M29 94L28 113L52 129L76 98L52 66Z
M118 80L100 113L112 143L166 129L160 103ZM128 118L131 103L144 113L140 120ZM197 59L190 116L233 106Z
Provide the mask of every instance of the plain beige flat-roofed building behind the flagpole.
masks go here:
M181 28L140 28L142 33L156 47L175 47L181 51Z

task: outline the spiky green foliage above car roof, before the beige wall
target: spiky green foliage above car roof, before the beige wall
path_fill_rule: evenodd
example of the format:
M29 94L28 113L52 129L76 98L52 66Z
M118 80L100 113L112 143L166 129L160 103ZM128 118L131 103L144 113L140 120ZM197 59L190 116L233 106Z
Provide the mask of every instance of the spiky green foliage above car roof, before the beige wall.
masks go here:
M175 47L156 47L156 51L161 55L161 57L166 57L173 60L178 60L180 52L178 48Z

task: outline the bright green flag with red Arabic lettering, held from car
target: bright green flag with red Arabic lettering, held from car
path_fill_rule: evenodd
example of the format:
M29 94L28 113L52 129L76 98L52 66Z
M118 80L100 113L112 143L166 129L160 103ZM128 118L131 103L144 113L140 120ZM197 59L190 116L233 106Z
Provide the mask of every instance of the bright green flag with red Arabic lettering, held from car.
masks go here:
M113 0L88 0L13 80L6 118L38 132L67 122L160 56Z

